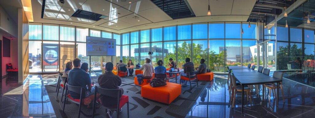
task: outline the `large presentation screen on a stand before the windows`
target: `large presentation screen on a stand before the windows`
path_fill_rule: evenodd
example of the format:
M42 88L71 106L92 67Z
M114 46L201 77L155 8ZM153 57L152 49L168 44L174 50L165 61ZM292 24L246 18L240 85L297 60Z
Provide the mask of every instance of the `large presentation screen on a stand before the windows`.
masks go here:
M116 56L116 40L110 38L86 36L86 55Z

